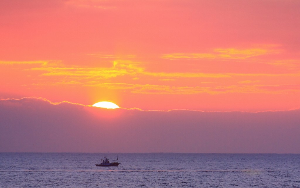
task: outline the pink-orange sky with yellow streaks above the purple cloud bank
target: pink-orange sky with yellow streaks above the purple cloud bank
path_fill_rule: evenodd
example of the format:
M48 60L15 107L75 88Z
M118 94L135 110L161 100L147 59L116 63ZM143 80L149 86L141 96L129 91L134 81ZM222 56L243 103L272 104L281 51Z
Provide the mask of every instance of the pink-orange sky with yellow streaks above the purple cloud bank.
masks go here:
M1 1L1 98L299 108L300 2Z

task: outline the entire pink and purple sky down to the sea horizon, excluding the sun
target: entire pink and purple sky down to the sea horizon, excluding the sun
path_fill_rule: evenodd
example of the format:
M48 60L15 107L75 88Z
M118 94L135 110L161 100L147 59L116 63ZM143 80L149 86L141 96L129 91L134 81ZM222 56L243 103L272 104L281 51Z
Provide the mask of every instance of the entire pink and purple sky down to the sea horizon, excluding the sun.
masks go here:
M298 0L0 1L0 151L103 152L90 134L110 126L116 152L300 153L299 10ZM100 101L121 108L91 107ZM81 146L68 149L72 139Z

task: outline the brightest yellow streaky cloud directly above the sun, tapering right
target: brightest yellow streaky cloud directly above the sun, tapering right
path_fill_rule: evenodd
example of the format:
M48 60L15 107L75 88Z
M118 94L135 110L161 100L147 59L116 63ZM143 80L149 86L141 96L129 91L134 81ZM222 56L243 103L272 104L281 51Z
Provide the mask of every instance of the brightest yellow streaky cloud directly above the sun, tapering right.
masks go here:
M161 80L174 80L175 78L230 78L226 74L213 74L213 73L190 73L190 72L147 72L145 68L140 67L141 63L131 61L114 61L113 67L35 67L31 70L44 71L42 76L56 76L56 77L69 77L72 80L100 80L110 79L120 76L130 76L131 79L137 80L140 76L159 77Z

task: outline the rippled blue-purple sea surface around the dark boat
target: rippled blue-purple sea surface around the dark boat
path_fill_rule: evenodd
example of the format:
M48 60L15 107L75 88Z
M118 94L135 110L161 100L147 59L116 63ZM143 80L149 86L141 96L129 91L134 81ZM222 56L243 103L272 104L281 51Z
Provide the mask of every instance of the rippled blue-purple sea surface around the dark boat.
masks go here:
M300 187L300 154L0 153L0 187Z

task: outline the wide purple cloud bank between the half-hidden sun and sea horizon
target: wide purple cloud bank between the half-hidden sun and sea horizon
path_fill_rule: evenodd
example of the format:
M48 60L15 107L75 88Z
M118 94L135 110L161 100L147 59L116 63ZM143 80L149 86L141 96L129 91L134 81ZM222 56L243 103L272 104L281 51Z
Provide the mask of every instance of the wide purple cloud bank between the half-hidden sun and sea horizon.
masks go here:
M300 110L104 109L0 100L0 152L300 153Z

